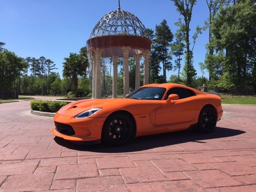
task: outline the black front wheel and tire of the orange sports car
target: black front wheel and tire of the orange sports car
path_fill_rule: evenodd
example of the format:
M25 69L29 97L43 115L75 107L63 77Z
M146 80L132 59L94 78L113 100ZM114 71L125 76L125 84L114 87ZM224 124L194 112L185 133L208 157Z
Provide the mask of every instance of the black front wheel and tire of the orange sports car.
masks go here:
M101 140L103 144L122 146L133 137L133 121L131 117L124 112L110 115L102 128Z

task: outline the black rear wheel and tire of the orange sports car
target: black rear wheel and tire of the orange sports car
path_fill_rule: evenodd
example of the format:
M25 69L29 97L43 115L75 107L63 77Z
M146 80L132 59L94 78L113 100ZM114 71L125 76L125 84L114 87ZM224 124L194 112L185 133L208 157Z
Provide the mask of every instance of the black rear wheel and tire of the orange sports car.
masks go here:
M198 131L203 133L210 133L215 129L216 123L217 115L214 108L211 106L205 106L202 108L198 118Z

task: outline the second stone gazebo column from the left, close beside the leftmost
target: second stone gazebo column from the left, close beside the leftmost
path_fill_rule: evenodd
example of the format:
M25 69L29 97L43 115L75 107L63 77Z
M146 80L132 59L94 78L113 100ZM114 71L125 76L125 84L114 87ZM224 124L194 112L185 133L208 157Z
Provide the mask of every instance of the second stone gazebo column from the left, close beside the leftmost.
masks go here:
M95 58L96 58L95 98L96 99L101 98L101 83L100 83L100 77L101 77L101 68L100 68L101 54L102 54L102 49L96 48L96 54L95 54Z

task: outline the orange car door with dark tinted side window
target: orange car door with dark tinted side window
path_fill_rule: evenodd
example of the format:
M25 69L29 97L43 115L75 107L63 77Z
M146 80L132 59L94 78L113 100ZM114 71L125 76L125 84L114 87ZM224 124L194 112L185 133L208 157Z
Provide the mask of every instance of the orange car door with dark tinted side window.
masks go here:
M164 103L156 108L156 125L166 125L193 120L196 114L198 100L196 94L186 88L171 88L166 95L177 94L179 99Z

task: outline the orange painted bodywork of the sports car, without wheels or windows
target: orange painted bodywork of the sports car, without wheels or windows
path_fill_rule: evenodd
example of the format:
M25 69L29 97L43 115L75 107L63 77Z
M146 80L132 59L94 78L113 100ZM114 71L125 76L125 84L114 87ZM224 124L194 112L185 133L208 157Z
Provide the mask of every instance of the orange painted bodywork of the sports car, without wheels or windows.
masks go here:
M132 98L115 99L87 99L67 104L54 116L54 122L60 123L61 130L58 132L54 127L52 133L55 136L72 141L95 141L100 140L104 122L110 114L117 111L125 111L132 115L136 124L136 135L144 136L186 130L197 124L200 111L204 106L211 105L215 111L217 120L222 117L223 111L219 96L204 94L193 88L180 84L148 84L142 87L162 87L166 92L162 100L136 100ZM142 88L141 87L141 88ZM169 99L166 94L171 88L185 88L194 93L183 99ZM171 97L175 98L175 95ZM76 119L78 114L92 109L102 108L88 118ZM64 125L62 125L64 124ZM74 134L71 134L70 127ZM62 129L63 128L63 129Z

